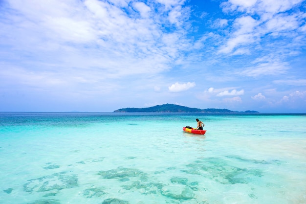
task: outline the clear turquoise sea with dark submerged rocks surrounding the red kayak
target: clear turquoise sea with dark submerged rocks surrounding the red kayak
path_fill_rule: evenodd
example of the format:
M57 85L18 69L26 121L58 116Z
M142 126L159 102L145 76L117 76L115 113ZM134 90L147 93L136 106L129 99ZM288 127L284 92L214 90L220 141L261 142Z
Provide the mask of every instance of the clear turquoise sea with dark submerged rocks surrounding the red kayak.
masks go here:
M0 113L0 204L306 204L306 114Z

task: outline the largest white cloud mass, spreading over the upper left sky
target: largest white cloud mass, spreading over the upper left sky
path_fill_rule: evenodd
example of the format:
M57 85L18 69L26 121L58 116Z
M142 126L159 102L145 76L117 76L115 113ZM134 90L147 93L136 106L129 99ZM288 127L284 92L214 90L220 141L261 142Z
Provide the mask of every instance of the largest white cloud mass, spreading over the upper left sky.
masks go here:
M19 56L48 58L53 64L51 69L58 67L57 72L67 67L83 71L93 68L98 72L95 74L111 77L162 72L170 68L184 47L190 47L184 33L172 30L163 34L162 31L161 17L171 11L188 17L188 12L181 12L184 1L160 0L170 6L170 12L158 10L156 13L154 6L157 5L150 4L154 11L150 19L143 19L151 12L151 7L143 2L131 2L141 18L131 8L126 8L130 9L130 15L121 8L130 1L109 2L34 0L24 5L23 1L14 0L10 2L11 10L18 11L19 15L8 14L11 23L0 21L0 27L4 28L0 34L7 36L0 43L19 50ZM177 20L176 17L173 16ZM6 52L13 55L9 50Z

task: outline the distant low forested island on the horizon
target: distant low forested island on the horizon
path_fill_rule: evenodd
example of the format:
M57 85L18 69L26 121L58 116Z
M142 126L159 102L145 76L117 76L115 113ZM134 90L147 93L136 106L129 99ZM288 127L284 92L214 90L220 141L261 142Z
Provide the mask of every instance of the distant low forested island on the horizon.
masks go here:
M259 113L257 111L230 111L228 109L197 109L175 104L163 104L149 108L124 108L114 113Z

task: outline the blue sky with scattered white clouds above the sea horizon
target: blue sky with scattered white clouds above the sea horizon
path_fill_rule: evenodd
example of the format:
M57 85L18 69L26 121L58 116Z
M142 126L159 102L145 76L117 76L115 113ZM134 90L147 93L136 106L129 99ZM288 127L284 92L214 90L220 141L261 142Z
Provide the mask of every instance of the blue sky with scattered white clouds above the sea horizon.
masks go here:
M0 111L306 113L306 0L1 0Z

